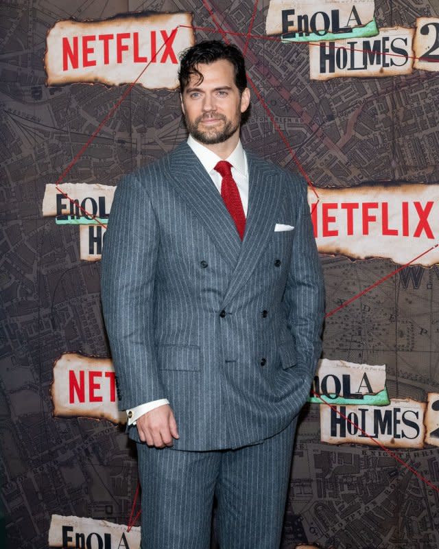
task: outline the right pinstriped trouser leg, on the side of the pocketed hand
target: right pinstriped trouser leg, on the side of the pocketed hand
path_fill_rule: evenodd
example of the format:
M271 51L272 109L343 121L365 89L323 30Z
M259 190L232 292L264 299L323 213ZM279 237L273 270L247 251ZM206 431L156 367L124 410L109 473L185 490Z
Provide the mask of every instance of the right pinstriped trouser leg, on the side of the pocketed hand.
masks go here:
M221 549L280 546L296 422L222 457L216 528Z

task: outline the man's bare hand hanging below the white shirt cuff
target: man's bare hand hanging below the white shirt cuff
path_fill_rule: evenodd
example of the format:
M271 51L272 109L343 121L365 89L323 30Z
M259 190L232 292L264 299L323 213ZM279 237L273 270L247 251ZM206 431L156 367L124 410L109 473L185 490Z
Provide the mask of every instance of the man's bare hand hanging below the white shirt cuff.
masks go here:
M179 438L176 419L169 404L163 404L143 414L137 419L136 425L141 441L148 446L172 446L172 439Z

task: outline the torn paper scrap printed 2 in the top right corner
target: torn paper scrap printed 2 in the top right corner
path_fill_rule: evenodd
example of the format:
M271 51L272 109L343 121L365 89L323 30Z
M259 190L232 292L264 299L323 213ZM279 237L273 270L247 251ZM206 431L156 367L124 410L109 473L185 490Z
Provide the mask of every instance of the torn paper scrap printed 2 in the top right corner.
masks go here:
M414 34L414 68L439 71L439 19L418 17Z

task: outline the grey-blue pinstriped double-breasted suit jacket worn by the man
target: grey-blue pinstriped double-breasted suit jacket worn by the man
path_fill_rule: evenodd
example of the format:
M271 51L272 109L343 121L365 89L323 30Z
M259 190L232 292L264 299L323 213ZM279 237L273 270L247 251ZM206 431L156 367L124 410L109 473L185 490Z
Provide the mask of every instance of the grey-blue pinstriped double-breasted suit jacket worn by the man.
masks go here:
M304 404L320 355L322 276L306 184L247 158L242 242L187 143L123 178L112 203L102 304L119 408L167 398L174 449L240 447L280 432Z

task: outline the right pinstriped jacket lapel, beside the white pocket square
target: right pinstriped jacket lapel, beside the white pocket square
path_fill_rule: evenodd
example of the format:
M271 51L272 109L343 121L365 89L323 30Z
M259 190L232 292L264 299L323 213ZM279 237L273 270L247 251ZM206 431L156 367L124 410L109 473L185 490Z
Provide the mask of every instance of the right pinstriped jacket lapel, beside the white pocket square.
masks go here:
M264 248L273 236L276 216L281 209L281 180L272 167L257 156L247 153L247 158L249 196L246 231L224 296L224 305L246 284L252 271L257 268Z

